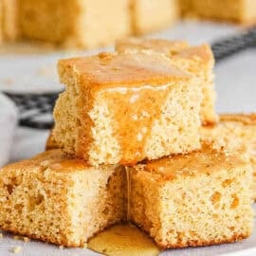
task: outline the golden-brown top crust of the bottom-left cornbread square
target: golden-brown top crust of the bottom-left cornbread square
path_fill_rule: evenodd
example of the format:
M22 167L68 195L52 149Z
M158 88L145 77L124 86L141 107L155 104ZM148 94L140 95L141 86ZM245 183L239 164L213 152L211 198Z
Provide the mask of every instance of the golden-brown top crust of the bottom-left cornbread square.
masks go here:
M89 165L82 159L69 159L62 150L49 150L33 158L23 160L17 163L9 164L4 167L3 171L11 170L33 170L42 169L50 170L56 173L75 173L78 171L89 170Z

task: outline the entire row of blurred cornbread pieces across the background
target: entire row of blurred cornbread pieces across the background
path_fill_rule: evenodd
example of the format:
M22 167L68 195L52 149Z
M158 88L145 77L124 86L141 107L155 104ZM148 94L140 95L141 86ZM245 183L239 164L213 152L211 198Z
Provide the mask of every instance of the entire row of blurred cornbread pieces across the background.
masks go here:
M169 27L184 16L253 25L256 3L254 0L0 0L0 33L2 30L8 42L40 40L57 46L92 48Z

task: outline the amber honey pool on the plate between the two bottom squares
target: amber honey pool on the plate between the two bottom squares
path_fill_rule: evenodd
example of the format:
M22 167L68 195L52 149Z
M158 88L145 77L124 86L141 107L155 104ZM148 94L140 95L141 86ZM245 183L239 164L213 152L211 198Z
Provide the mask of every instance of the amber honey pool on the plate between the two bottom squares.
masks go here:
M131 224L105 229L88 243L88 248L108 256L156 256L154 241Z

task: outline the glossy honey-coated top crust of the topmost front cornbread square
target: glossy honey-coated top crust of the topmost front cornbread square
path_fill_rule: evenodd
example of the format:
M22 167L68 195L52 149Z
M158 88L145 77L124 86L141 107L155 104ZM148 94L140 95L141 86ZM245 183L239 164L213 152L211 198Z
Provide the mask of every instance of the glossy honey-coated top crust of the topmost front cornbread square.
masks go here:
M164 85L189 80L187 73L156 53L100 53L96 56L61 60L61 82L69 84L76 77L80 86L100 90L113 87Z

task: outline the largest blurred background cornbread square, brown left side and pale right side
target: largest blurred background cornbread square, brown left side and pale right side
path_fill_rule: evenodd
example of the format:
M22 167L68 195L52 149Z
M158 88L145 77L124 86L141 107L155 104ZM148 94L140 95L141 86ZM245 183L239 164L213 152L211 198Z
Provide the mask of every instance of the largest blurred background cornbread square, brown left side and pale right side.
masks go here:
M129 0L20 0L23 35L63 46L106 46L130 34Z

